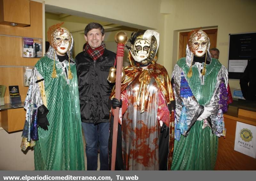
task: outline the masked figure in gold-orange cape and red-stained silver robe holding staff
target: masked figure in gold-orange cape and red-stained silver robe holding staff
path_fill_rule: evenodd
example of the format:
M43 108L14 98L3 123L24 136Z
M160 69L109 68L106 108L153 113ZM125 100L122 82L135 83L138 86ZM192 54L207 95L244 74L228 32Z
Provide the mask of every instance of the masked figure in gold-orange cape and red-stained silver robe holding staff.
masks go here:
M175 99L166 69L156 64L159 34L135 32L130 41L131 65L125 67L121 85L116 170L167 170L172 162ZM114 108L114 91L110 97Z

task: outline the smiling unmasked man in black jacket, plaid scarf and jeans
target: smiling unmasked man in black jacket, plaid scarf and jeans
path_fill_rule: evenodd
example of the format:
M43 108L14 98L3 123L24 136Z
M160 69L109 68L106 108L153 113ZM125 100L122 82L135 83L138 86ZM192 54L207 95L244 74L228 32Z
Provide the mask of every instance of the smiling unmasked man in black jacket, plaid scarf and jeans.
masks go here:
M116 54L105 48L104 28L89 23L84 29L85 51L76 56L80 111L86 142L87 170L97 170L98 143L100 170L108 170L109 109L113 88L107 80Z

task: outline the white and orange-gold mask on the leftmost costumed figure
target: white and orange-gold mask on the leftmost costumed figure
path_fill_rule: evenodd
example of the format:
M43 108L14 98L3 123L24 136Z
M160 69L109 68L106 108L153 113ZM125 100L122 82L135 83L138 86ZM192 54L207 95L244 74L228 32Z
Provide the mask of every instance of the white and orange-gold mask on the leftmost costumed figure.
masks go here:
M71 34L66 28L57 28L52 33L52 46L60 54L65 54L71 45Z

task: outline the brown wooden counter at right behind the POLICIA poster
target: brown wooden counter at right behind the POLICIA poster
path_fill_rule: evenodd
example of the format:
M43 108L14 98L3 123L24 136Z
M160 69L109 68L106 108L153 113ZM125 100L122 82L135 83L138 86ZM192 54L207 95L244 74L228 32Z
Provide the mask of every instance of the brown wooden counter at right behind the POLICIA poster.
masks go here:
M226 138L219 138L215 170L256 170L256 159L234 150L236 122L256 126L256 102L235 101L224 114ZM256 139L256 138L255 138Z

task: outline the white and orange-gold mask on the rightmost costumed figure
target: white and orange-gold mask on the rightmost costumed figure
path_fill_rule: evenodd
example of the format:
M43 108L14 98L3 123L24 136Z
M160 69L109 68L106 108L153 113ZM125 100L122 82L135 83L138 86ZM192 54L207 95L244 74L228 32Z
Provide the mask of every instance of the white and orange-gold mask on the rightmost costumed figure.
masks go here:
M190 51L197 57L203 57L207 51L209 44L209 38L203 31L197 31L190 35L188 41L188 47Z

